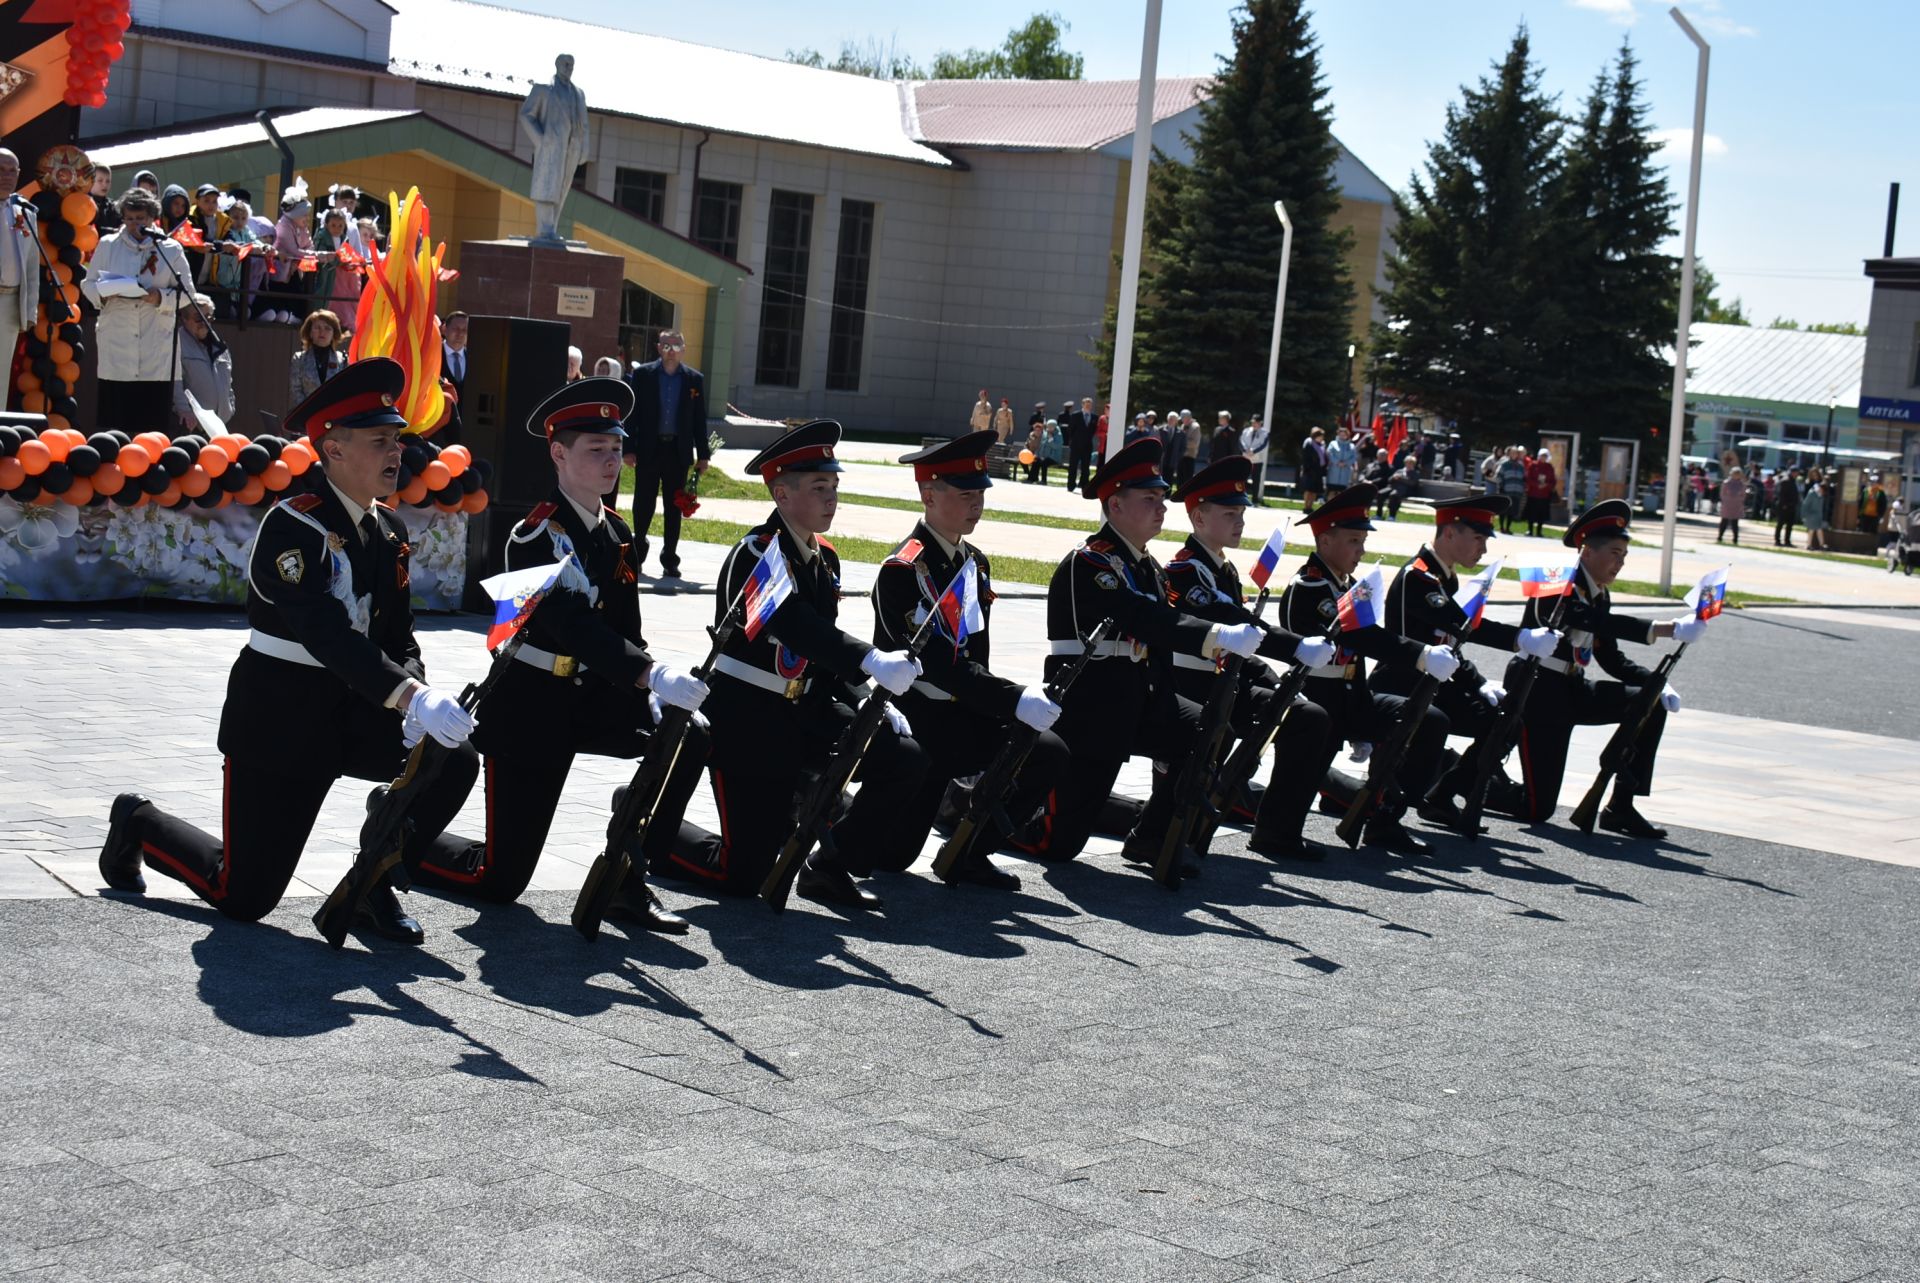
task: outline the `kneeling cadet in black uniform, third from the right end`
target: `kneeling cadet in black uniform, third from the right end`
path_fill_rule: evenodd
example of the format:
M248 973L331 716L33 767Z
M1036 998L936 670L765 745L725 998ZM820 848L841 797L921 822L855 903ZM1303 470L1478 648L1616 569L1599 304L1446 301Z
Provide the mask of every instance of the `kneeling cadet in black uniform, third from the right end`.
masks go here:
M1373 507L1373 486L1352 486L1321 503L1302 519L1313 528L1313 551L1294 574L1281 597L1281 622L1300 634L1325 634L1338 615L1340 595L1354 586L1354 570L1367 551L1367 509ZM1375 691L1367 686L1367 659L1400 661L1419 672L1446 680L1453 676L1459 659L1444 645L1421 645L1386 628L1356 628L1334 638L1331 663L1308 678L1308 699L1332 716L1332 736L1321 751L1315 778L1327 774L1340 743L1377 743L1400 720L1405 703L1400 695ZM1398 787L1402 797L1419 799L1432 784L1440 751L1446 747L1446 714L1427 709L1407 755L1402 759ZM1367 841L1402 855L1417 855L1427 843L1400 824L1404 807L1380 807L1367 822Z

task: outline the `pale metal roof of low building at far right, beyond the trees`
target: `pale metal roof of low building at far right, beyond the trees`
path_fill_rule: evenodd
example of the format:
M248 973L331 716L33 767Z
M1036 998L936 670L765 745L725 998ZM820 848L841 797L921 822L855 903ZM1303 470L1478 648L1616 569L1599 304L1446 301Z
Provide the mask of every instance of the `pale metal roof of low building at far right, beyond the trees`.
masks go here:
M1690 398L1726 396L1818 407L1828 401L1860 403L1864 336L1711 323L1693 325L1690 334Z

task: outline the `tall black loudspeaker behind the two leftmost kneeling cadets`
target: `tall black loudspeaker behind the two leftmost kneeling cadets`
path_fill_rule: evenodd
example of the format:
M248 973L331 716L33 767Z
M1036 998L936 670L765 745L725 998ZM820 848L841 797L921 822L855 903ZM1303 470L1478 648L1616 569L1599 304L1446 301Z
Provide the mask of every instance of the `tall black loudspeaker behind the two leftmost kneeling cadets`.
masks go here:
M566 382L564 321L472 317L467 323L467 380L461 444L493 463L486 513L467 524L467 609L492 613L480 580L499 574L507 534L553 490L545 438L526 430L534 409Z

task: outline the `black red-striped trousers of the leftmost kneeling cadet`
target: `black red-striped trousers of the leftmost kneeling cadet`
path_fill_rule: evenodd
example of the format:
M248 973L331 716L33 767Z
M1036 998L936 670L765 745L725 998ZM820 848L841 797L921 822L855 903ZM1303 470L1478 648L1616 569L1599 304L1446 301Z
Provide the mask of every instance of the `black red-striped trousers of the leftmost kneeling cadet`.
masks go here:
M154 805L132 812L129 834L138 839L148 868L179 878L228 918L257 922L286 895L334 782L349 776L386 784L399 774L407 751L399 743L399 718L388 720L388 734L348 736L330 745L324 736L298 741L301 757L296 763L267 753L228 757L221 837ZM409 811L409 868L422 859L453 859L465 849L463 839L447 837L442 830L467 803L478 770L480 755L461 745L445 759L440 776L420 791Z

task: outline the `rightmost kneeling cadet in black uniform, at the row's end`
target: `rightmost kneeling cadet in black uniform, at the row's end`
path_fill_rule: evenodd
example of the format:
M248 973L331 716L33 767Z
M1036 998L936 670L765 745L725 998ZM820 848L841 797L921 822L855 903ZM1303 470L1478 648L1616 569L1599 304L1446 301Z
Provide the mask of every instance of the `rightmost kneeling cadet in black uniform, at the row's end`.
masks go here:
M1613 613L1607 586L1626 565L1628 522L1634 509L1626 499L1603 499L1567 526L1563 544L1580 549L1580 569L1572 580L1572 599L1561 615L1565 636L1549 659L1540 661L1540 678L1521 713L1521 776L1524 797L1519 818L1542 822L1559 805L1561 778L1567 774L1567 741L1574 726L1617 724L1651 672L1620 653L1620 642L1653 642L1672 638L1697 642L1707 624L1682 615L1665 622ZM1528 628L1538 628L1551 597L1526 603ZM1599 665L1613 682L1590 680L1588 668ZM1613 799L1599 812L1599 826L1628 837L1665 837L1667 830L1651 824L1634 809L1634 797L1645 797L1653 787L1653 757L1667 728L1667 714L1680 711L1680 693L1668 686L1661 707L1653 711L1638 743L1638 778L1624 776L1613 786Z

